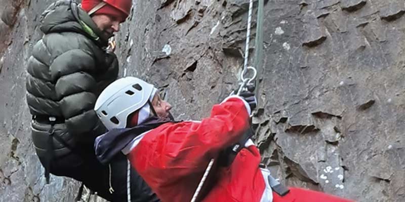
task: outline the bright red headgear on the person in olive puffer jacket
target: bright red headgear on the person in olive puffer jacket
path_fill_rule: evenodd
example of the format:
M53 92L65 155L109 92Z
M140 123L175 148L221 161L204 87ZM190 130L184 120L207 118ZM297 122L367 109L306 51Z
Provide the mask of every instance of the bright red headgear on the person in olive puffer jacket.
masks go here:
M83 0L82 9L85 10L87 13L89 13L95 6L97 6L101 2L102 2L101 0ZM117 18L120 22L124 22L125 19L128 17L127 14L112 7L109 4L105 4L99 10L94 12L92 15L100 15L100 14L113 16L113 17Z

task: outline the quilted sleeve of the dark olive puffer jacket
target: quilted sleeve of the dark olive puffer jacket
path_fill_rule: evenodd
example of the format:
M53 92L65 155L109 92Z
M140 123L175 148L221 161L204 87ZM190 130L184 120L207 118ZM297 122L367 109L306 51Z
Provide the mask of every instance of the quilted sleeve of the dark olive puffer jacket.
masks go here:
M71 49L55 58L50 70L68 131L74 135L103 131L93 111L97 99L97 81L91 74L96 71L93 57L83 49Z

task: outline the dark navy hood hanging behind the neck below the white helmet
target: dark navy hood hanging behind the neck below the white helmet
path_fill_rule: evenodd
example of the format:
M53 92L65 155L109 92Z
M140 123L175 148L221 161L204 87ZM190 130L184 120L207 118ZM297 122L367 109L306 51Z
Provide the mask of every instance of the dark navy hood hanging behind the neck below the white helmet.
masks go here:
M112 129L96 138L94 142L96 157L102 164L108 164L113 157L120 153L135 137L170 122L174 122L173 119L150 117L141 125L133 128Z

